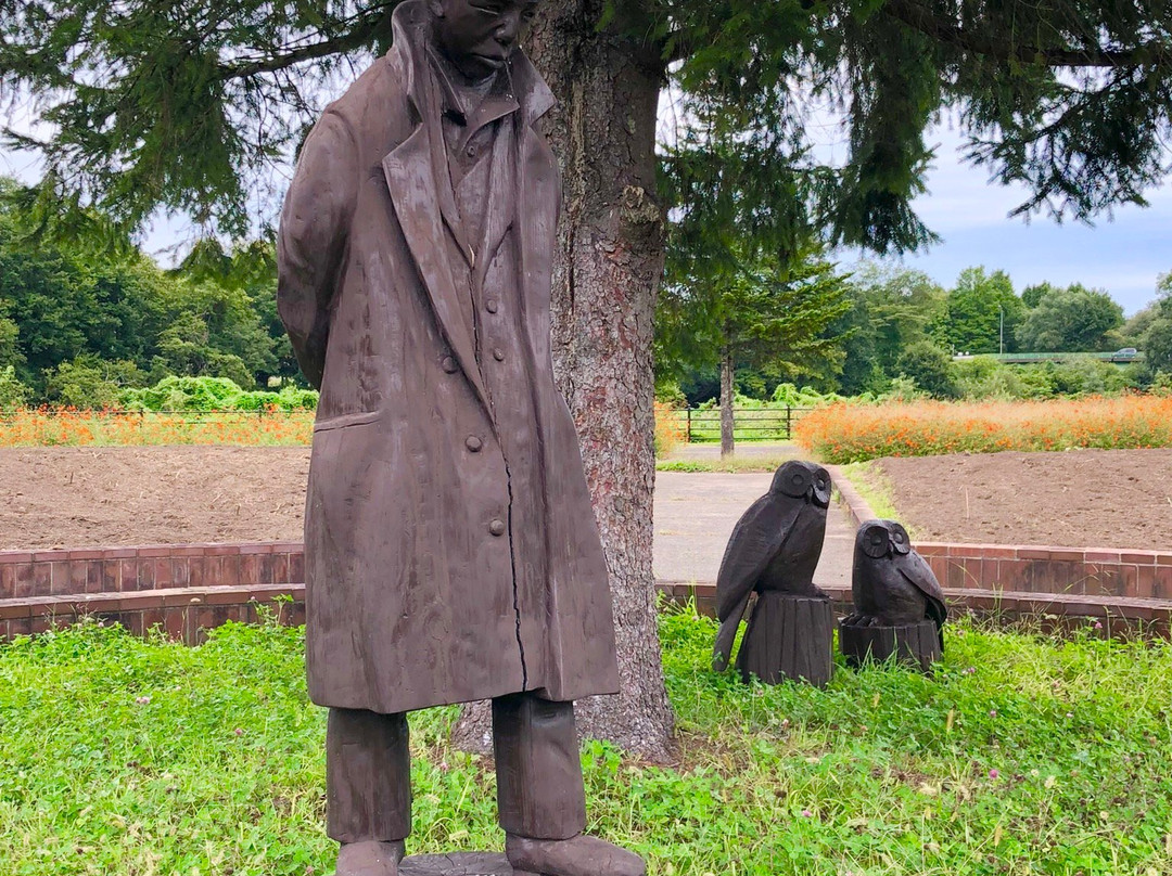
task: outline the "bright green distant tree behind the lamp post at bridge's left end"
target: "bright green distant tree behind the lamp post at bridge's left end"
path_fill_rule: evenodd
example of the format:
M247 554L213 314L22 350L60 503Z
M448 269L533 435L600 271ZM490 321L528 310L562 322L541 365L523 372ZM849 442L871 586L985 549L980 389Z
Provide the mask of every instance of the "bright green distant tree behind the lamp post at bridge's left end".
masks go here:
M1024 310L1004 271L965 268L945 299L941 340L954 353L1013 353Z

